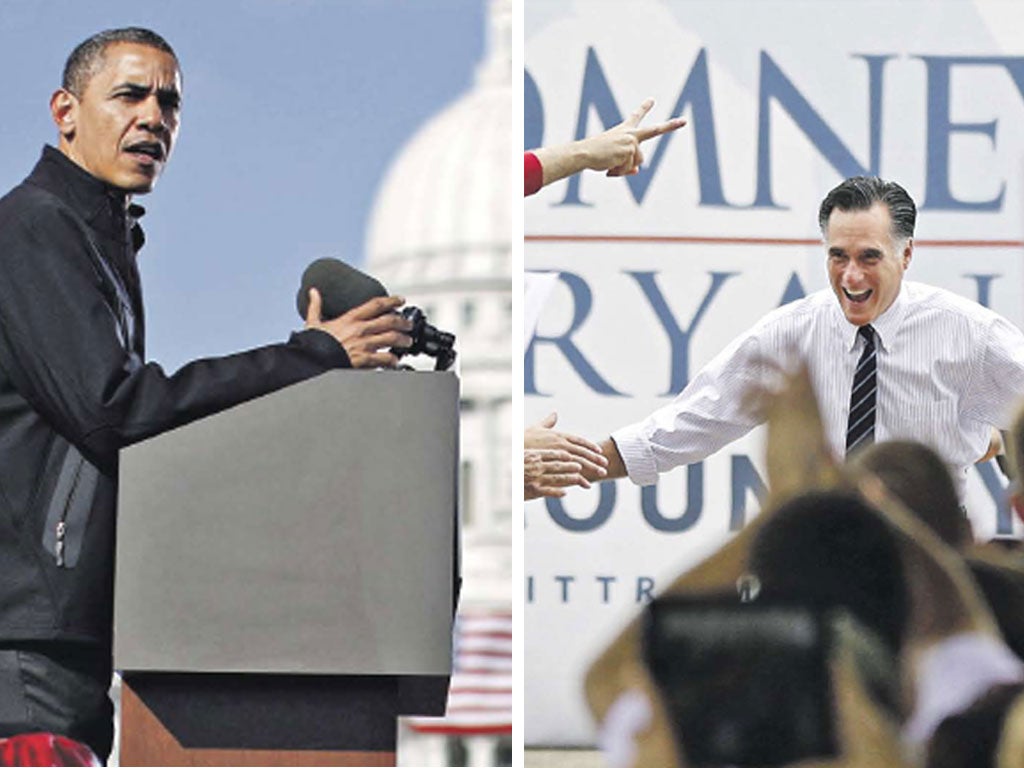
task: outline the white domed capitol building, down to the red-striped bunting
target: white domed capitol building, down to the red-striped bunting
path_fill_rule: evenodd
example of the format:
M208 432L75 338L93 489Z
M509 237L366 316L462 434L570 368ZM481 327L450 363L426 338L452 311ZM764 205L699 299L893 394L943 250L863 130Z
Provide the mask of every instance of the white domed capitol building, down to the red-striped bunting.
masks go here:
M512 410L519 334L512 325L511 253L521 212L515 198L520 111L512 0L490 0L488 10L487 44L473 87L397 156L377 194L367 237L367 270L457 336L464 604L511 604L511 475L518 463L512 450L522 428L521 415ZM481 548L489 550L485 557Z

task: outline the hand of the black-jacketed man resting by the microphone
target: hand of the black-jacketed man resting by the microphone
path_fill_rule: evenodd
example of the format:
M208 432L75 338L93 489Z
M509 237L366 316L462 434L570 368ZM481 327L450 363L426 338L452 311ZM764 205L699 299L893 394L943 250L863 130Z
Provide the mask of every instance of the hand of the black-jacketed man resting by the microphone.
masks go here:
M319 291L310 288L306 328L331 334L345 348L352 368L394 368L398 358L389 349L413 344L413 340L402 333L412 330L412 322L395 311L404 303L400 296L378 296L340 317L324 321L321 318Z

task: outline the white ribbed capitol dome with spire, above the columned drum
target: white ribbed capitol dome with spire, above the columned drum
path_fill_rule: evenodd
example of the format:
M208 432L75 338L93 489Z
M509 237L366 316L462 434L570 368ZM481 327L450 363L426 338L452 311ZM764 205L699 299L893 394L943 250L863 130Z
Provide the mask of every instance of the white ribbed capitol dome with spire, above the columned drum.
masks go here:
M490 0L473 88L410 140L384 178L370 220L368 266L389 286L435 292L504 281L511 290L509 251L520 211L509 205L520 114L511 28L511 0Z

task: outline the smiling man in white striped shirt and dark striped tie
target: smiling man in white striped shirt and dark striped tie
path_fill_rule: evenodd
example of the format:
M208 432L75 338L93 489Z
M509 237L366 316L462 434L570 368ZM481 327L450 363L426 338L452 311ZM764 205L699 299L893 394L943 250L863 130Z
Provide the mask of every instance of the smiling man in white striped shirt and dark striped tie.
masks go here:
M897 183L858 176L825 197L818 224L831 290L770 312L669 406L601 444L608 477L638 484L700 461L762 422L755 395L806 362L837 456L911 439L967 469L1024 395L1024 334L948 291L903 280L916 208ZM591 479L604 479L593 477Z

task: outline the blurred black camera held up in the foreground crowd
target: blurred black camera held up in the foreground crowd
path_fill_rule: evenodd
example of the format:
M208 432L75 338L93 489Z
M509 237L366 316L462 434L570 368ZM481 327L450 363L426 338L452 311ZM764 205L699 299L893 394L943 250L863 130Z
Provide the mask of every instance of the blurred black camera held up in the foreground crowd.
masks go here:
M842 637L871 698L898 708L895 658L844 610L735 596L666 596L643 659L694 766L780 766L838 753L829 659Z

